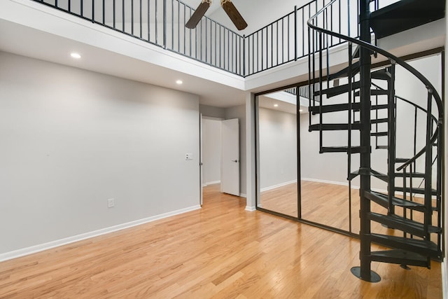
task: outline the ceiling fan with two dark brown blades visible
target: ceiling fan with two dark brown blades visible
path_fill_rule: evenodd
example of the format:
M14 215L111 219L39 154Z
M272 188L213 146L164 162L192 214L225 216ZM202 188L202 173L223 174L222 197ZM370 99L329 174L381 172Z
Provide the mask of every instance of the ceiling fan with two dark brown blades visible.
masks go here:
M196 11L191 15L190 20L186 23L186 27L190 29L194 29L197 25L197 23L200 22L201 18L205 15L207 9L211 6L211 0L202 0L200 5L197 6ZM229 16L230 20L232 20L233 24L235 24L235 27L237 27L238 30L242 30L247 27L247 23L244 20L243 17L241 17L241 14L235 7L235 5L232 4L232 1L230 0L221 0L221 6L223 7L225 13Z

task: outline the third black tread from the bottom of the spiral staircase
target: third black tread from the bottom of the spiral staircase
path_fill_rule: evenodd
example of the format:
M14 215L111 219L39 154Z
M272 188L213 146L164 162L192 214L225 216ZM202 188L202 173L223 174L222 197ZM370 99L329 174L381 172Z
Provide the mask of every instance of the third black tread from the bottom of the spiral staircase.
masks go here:
M387 225L389 228L401 230L403 232L409 232L411 235L416 235L419 237L425 237L426 233L423 223L419 223L417 221L403 218L398 215L383 215L374 212L370 212L367 214L367 217L378 223ZM433 225L428 225L428 233L442 232L442 228L437 228Z

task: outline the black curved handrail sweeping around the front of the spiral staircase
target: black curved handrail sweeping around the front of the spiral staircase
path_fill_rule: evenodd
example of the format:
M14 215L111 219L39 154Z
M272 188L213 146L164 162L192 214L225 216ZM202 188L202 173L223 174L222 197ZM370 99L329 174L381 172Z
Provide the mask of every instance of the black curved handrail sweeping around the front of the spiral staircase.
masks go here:
M416 153L416 155L414 155L414 157L410 158L409 160L407 160L407 162L403 163L400 167L398 167L397 171L400 171L401 169L403 169L403 168L407 167L408 165L412 164L412 162L414 162L421 155L423 155L423 153L425 153L426 150L430 146L433 146L433 144L435 144L435 141L437 140L438 135L439 135L440 126L443 123L442 99L440 99L440 95L435 90L433 84L430 83L430 81L428 81L428 79L425 76L423 76L419 71L414 69L414 67L411 67L404 60L396 57L392 53L388 53L386 50L378 48L377 46L373 46L372 44L367 43L365 41L360 41L358 39L353 39L350 36L345 36L344 34L339 34L337 32L332 32L332 31L330 31L328 29L317 27L316 25L314 25L313 24L314 20L316 20L316 18L318 18L318 16L321 15L321 13L326 11L328 7L332 6L332 4L335 3L335 1L337 1L337 0L330 1L327 5L323 6L323 8L321 8L321 10L319 10L315 15L313 15L307 22L308 27L311 28L311 29L316 30L317 32L322 32L322 33L328 34L330 36L335 36L335 37L337 37L339 39L344 39L346 41L350 41L351 43L356 43L357 45L359 45L359 46L361 46L363 48L367 48L369 50L372 50L375 53L379 53L379 54L383 55L384 57L387 57L389 60L393 60L397 64L400 64L400 66L402 66L404 69L407 69L407 71L409 71L411 74L416 76L416 78L418 78L419 81L421 81L421 83L423 83L423 85L425 85L426 89L428 90L428 95L431 95L432 97L434 97L435 103L437 104L438 118L437 118L435 131L433 132L433 136L430 137L429 144L426 144L426 146L424 146L421 149L421 151Z

